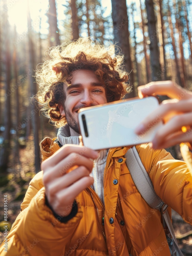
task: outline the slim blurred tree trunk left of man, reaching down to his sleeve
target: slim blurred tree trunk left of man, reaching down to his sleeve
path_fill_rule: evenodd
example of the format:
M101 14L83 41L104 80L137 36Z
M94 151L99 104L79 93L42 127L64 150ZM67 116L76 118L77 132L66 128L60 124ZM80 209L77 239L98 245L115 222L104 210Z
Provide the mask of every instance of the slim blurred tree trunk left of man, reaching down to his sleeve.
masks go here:
M29 2L28 2L28 10L27 10L27 23L28 27L31 27L31 16L29 10ZM34 71L35 67L34 61L34 49L33 49L33 41L31 30L29 30L28 34L29 38L29 68L32 71L32 75L30 75L30 91L31 91L31 118L32 118L32 127L34 132L34 145L35 145L35 171L36 173L41 170L40 168L40 150L39 150L39 131L38 131L38 123L39 123L39 110L36 108L34 95L37 94L36 83L34 79Z

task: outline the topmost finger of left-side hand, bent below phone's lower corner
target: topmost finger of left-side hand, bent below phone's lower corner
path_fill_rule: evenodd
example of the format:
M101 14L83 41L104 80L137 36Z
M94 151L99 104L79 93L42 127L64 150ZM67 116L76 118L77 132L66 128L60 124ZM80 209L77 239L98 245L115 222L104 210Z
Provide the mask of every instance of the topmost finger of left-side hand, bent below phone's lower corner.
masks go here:
M55 166L62 159L64 159L71 153L77 153L79 155L83 155L87 158L93 158L93 159L98 157L98 153L90 148L79 146L79 145L66 144L62 146L56 153L54 153L52 156L50 156L48 159L42 162L41 164L42 170Z

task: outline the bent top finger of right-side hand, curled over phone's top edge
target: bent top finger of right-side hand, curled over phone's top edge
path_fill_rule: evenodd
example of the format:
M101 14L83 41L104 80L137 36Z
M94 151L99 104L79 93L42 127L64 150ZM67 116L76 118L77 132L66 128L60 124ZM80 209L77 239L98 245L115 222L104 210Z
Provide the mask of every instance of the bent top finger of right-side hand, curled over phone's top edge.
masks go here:
M138 88L139 98L149 95L167 95L171 99L189 99L192 93L176 85L173 81L151 82Z

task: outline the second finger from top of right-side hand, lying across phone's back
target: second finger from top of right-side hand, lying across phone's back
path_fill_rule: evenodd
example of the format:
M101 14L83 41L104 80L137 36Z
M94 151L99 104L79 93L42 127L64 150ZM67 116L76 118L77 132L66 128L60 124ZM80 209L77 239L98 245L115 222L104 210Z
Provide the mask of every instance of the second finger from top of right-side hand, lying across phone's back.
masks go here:
M163 101L164 102L164 101ZM149 129L160 121L167 121L173 115L184 112L189 112L192 109L192 100L186 100L185 103L182 101L174 102L169 100L169 103L161 103L159 107L149 114L135 129L136 134L140 134Z

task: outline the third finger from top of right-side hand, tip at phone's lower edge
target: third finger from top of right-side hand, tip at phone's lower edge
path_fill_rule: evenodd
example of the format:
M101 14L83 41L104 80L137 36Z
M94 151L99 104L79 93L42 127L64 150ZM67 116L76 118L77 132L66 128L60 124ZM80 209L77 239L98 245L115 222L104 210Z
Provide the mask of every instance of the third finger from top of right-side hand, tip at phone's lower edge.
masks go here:
M162 144L164 139L177 132L178 130L181 131L182 126L190 126L192 125L192 113L185 113L181 115L174 116L169 122L164 124L161 129L159 129L155 137L152 141L153 147L157 147Z

